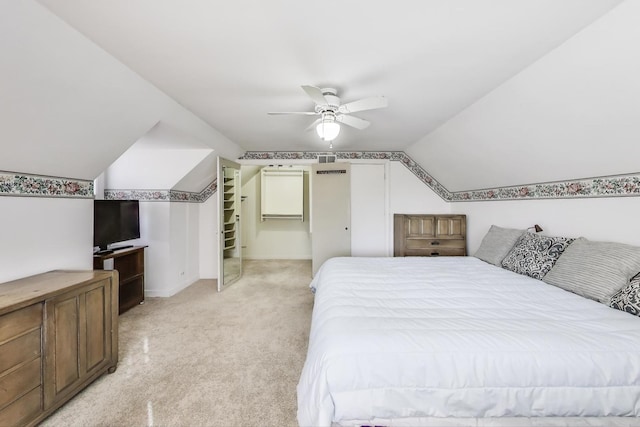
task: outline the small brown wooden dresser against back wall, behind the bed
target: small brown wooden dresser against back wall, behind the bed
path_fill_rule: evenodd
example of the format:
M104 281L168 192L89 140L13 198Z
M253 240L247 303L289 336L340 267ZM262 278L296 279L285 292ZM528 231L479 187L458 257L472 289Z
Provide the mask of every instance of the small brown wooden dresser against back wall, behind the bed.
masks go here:
M393 256L465 256L466 215L393 216Z

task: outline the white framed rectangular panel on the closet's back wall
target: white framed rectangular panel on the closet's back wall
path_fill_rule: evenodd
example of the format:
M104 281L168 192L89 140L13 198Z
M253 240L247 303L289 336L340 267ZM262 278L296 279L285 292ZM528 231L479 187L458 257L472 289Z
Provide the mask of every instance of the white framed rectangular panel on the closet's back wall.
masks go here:
M292 168L263 168L260 173L260 220L304 221L304 171Z

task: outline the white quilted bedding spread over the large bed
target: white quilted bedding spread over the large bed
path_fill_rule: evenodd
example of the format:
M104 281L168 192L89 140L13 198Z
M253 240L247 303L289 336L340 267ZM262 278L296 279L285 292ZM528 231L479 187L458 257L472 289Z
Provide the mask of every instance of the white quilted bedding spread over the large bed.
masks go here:
M473 257L333 258L301 426L640 416L640 319Z

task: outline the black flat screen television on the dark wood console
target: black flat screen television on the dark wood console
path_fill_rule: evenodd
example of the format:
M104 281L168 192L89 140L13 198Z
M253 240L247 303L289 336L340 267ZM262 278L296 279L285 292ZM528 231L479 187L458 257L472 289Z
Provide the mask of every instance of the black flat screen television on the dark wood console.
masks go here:
M137 200L93 201L93 246L107 251L113 243L140 238Z

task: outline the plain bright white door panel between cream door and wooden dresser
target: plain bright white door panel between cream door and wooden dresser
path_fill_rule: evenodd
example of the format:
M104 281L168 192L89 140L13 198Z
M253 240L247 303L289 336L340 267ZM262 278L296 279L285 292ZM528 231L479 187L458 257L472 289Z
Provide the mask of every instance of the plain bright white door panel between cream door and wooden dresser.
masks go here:
M386 165L351 165L351 256L389 256Z

